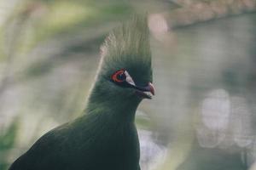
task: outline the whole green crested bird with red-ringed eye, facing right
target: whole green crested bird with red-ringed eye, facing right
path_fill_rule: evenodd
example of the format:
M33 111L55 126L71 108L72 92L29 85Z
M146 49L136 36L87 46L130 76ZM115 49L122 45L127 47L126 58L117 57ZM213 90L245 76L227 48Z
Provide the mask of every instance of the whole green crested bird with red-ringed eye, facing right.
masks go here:
M9 170L139 170L137 106L154 95L146 17L114 29L83 116L44 134Z

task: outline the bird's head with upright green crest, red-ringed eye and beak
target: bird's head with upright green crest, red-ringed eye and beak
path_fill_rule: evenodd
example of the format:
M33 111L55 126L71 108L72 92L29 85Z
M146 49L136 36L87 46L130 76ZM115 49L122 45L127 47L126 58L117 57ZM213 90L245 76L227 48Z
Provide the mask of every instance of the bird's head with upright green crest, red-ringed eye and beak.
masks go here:
M101 51L93 91L98 98L137 103L152 98L154 86L146 17L134 16L114 29Z

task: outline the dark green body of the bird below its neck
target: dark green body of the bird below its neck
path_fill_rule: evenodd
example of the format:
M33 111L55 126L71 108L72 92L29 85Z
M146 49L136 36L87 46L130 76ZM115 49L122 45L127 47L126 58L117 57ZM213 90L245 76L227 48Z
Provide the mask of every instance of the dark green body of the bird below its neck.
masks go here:
M105 114L82 117L44 134L11 169L138 169L134 123L108 122Z

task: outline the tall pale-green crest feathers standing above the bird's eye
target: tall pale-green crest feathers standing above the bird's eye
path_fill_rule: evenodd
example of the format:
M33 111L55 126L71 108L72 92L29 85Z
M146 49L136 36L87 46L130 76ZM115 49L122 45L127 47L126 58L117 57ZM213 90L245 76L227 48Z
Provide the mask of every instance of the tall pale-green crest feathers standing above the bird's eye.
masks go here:
M114 29L102 45L100 74L109 75L125 68L131 72L151 74L151 52L147 17L135 15Z

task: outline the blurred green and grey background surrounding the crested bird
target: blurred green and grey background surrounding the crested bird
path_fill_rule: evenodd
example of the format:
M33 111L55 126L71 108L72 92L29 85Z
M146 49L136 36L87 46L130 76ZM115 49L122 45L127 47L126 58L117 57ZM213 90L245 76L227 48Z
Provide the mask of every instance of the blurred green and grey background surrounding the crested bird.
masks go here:
M1 0L0 170L79 116L99 48L148 13L142 170L256 170L256 0Z

